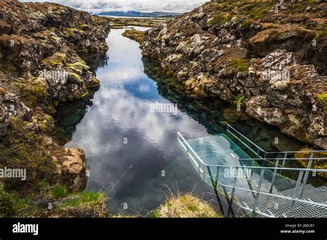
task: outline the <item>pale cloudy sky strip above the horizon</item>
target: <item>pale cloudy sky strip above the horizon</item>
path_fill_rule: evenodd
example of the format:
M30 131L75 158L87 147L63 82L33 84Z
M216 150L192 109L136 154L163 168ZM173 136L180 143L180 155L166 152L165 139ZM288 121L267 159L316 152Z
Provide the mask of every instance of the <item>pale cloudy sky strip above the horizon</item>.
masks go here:
M21 2L44 2L20 0ZM47 0L88 12L189 12L209 0Z

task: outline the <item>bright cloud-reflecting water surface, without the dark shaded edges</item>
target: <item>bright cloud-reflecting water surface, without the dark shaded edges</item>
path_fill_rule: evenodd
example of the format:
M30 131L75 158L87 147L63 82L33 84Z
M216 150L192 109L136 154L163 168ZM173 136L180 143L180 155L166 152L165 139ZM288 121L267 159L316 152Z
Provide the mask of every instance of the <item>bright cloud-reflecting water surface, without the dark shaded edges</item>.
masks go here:
M170 102L144 73L139 44L122 37L123 31L111 30L107 64L96 70L101 88L92 106L81 110L83 119L66 144L86 152L87 190L106 192L108 208L122 214L145 215L170 190L196 188L195 192L215 199L177 145L177 131L195 138L207 135L206 128L180 110L177 114L151 111L152 103Z

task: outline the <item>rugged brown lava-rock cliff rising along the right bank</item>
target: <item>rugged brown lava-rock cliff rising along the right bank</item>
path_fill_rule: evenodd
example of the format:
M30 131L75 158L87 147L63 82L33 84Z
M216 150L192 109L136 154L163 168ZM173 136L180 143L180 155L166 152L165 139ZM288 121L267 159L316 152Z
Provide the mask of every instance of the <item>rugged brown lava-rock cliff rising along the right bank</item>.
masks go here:
M143 55L192 97L218 97L327 149L327 3L212 0L146 32Z

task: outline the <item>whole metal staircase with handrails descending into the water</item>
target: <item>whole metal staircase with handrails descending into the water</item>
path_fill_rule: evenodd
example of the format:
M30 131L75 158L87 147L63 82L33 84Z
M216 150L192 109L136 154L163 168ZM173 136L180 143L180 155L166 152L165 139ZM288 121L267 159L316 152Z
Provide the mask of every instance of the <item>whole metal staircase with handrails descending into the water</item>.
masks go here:
M179 132L177 136L199 176L252 216L327 217L326 186L307 183L309 174L327 173L311 168L315 160L327 161L315 157L327 150L266 152L230 125L226 134L188 141ZM307 168L289 166L299 160L294 158L299 152L310 155L301 159L308 161Z

